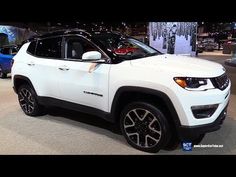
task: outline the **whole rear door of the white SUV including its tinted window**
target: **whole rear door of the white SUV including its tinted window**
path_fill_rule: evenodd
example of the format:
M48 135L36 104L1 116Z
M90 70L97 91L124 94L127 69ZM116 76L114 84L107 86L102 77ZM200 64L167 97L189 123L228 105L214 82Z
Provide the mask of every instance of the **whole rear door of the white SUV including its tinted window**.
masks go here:
M58 98L58 66L62 58L62 37L51 37L37 41L36 51L29 54L26 70L38 96Z

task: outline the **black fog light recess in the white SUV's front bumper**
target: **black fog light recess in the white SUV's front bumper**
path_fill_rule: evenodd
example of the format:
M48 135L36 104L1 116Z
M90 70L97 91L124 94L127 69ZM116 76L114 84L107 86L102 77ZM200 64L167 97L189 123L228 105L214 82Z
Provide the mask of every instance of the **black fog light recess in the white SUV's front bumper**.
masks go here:
M197 119L211 117L217 108L218 108L218 104L191 107L193 115Z

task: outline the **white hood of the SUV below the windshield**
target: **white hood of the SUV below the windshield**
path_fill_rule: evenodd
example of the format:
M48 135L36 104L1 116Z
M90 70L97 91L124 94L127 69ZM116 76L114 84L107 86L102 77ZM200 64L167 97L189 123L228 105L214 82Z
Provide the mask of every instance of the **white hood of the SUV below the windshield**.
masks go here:
M176 76L182 77L216 77L225 72L224 67L215 62L170 54L131 60L131 65L154 69L160 72L175 73Z

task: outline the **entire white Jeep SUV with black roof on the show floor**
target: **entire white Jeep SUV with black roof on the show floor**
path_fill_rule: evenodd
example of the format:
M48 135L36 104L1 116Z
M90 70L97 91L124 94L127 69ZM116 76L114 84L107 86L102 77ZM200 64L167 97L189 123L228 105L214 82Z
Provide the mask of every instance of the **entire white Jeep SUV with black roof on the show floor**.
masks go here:
M198 143L219 129L231 86L220 64L83 30L26 42L14 57L12 83L25 114L47 106L94 114L119 122L127 142L146 152Z

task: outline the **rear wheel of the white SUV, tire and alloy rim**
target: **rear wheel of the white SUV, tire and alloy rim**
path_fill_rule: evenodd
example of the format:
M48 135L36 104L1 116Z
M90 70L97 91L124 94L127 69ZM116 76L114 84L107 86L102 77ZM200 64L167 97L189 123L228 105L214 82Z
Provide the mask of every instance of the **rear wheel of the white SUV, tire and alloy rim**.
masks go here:
M29 85L21 85L18 89L18 101L21 109L28 116L40 116L43 106L38 104L37 95Z

